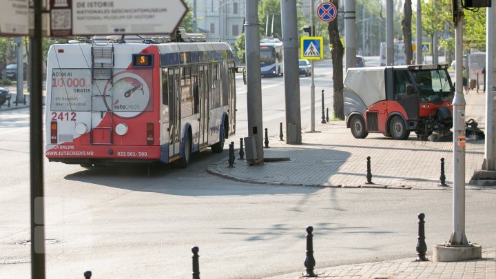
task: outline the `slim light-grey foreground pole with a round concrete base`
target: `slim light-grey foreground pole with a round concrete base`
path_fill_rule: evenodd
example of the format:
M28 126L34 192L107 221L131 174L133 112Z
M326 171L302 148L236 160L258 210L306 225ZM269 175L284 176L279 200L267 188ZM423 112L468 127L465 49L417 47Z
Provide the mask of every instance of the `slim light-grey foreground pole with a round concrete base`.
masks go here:
M463 18L462 0L453 0L455 20L456 92L453 99L453 232L448 242L435 245L437 262L471 260L482 257L482 246L468 242L465 236L465 98L462 84ZM418 48L417 48L418 50Z

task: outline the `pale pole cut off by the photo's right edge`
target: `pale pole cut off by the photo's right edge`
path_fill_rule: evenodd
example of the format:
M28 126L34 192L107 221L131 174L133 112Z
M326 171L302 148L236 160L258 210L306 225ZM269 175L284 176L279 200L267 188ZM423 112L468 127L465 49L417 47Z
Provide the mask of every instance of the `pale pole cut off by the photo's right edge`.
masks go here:
M484 152L484 164L483 169L488 171L496 171L496 141L495 141L495 131L496 131L496 121L495 114L495 81L496 81L496 69L494 61L494 52L496 51L495 42L495 17L496 17L496 7L486 8L486 151Z

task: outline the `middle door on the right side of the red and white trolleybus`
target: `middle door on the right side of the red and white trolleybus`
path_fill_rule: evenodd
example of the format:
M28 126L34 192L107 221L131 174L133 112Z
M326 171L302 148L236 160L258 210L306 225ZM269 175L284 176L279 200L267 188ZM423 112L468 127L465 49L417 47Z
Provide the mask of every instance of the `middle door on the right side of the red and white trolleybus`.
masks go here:
M199 128L199 144L200 151L202 147L207 147L207 121L208 121L208 110L207 110L207 96L208 96L208 66L201 65L198 67L198 99L200 105L200 128Z

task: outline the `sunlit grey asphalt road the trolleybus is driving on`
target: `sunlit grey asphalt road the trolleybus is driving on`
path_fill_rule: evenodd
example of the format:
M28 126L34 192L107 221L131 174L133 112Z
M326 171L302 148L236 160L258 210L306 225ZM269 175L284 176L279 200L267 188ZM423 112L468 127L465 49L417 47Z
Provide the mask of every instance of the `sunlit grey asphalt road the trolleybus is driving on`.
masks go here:
M331 80L326 72L318 73L322 82ZM263 79L262 87L279 82ZM276 99L280 86L271 88L263 96ZM264 111L274 121L284 117L275 103ZM29 112L4 111L0 119L0 278L29 278ZM451 236L450 191L282 187L207 174L225 156L205 152L187 169L154 167L150 177L139 166L88 170L45 161L46 278L82 278L88 269L92 278L187 278L194 245L201 278L300 271L307 225L316 268L413 257L421 211L427 254ZM496 247L495 198L495 191L466 192L466 235L483 248Z

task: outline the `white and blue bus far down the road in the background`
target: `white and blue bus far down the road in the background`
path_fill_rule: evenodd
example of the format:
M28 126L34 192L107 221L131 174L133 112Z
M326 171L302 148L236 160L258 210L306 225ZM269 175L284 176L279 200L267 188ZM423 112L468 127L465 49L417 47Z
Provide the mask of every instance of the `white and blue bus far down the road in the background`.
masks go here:
M282 60L282 41L277 38L260 40L260 74L278 76L284 72Z

